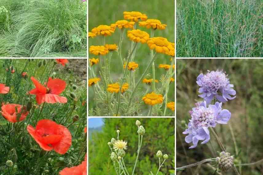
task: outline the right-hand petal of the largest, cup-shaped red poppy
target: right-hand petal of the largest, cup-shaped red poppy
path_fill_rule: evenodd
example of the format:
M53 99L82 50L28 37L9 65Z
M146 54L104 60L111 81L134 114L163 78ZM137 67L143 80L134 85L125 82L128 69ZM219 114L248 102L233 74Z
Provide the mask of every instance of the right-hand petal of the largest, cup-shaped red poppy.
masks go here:
M68 150L69 147L71 146L71 134L65 126L60 125L61 129L63 129L64 132L64 137L61 138L61 141L57 144L53 145L54 151L56 151L59 154L65 154Z

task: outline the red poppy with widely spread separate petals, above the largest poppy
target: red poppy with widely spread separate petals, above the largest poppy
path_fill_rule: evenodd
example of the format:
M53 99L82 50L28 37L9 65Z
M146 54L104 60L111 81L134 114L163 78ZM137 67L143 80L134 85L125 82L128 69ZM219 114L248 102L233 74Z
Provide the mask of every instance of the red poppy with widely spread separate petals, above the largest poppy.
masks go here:
M35 94L38 104L47 103L67 103L67 98L59 96L66 87L66 82L55 78L49 78L47 87L40 84L33 76L31 77L35 89L29 91L29 94Z

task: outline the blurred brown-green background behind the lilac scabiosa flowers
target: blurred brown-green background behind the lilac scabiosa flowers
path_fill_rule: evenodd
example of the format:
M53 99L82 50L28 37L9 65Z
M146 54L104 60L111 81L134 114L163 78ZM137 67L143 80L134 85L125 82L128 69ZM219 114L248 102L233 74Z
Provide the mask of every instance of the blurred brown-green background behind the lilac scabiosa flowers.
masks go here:
M182 134L186 129L184 123L190 119L190 111L195 107L194 103L202 101L198 97L199 86L196 84L196 78L200 73L206 73L207 70L223 70L228 74L230 84L234 84L237 92L236 98L222 105L223 109L231 112L229 124L217 125L215 127L218 136L222 140L227 151L234 155L236 163L250 163L263 158L263 76L261 59L177 59L177 89L176 89L176 118L177 118L177 140L176 140L176 166L181 167L190 163L195 163L210 157L217 157L211 153L211 143L216 151L220 148L210 134L210 141L207 144L198 143L197 148L188 149L191 144L184 141L186 134ZM236 143L237 154L234 147L233 137L230 133L230 125L233 128ZM182 139L183 142L180 141ZM184 152L184 149L186 152ZM187 160L188 158L188 160ZM211 163L213 164L213 163ZM238 168L240 171L240 169ZM211 167L203 164L197 170L197 167L186 169L183 172L177 172L177 175L188 175L198 171L202 175L210 175L214 172ZM241 175L260 175L263 172L262 163L253 166L244 166ZM227 174L234 174L231 170Z

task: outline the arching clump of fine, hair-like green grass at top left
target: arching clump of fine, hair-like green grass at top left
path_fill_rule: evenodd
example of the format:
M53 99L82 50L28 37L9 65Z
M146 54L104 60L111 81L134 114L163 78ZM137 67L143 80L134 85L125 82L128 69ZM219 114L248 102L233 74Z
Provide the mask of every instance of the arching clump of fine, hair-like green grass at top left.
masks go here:
M0 57L86 57L87 3L0 0Z

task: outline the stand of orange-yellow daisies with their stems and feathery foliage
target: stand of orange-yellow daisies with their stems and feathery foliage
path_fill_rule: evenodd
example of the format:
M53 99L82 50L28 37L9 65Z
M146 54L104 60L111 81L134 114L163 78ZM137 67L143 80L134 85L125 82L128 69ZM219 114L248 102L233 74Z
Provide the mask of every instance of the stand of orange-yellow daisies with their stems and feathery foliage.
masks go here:
M175 75L175 43L164 36L154 36L156 30L164 31L171 26L148 19L141 12L125 11L123 15L124 19L98 25L88 32L92 54L88 82L100 79L89 86L92 89L89 116L174 116L174 103L170 102L175 98L170 94L174 91L171 86ZM108 38L116 36L118 45L108 42ZM95 39L99 45L93 44ZM123 45L128 45L128 51L122 50L127 48ZM147 52L139 53L141 47L146 47ZM143 55L143 62L139 54ZM164 57L162 63L167 64L160 64L159 68L166 71L155 70L158 57ZM159 80L157 74L161 74Z

